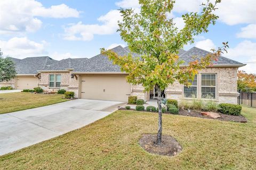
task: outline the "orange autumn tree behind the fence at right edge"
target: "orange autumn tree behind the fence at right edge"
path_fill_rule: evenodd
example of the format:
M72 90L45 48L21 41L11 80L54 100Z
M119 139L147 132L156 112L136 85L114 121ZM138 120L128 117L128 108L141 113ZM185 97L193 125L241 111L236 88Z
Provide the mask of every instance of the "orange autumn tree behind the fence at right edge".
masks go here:
M248 74L245 71L238 70L237 90L240 92L256 91L256 74Z

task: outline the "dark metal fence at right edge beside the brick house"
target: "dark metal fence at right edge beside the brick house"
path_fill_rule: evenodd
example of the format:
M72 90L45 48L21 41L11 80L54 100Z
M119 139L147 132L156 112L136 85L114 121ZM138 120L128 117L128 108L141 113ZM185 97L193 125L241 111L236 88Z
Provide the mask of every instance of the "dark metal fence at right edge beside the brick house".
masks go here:
M237 103L245 107L256 108L256 92L240 92Z

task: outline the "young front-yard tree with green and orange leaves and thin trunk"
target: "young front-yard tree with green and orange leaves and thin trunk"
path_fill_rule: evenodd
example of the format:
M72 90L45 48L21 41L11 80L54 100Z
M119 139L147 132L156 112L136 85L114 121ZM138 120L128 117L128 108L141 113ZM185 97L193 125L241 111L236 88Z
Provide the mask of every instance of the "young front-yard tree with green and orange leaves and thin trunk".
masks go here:
M121 8L123 21L118 21L121 38L129 46L131 53L137 53L140 57L118 56L111 50L101 48L101 53L108 56L114 64L126 72L127 81L133 84L142 84L145 91L158 87L158 132L157 145L162 143L162 106L161 90L164 90L174 81L186 86L191 85L188 79L193 79L198 70L212 64L227 43L207 56L195 57L189 65L180 67L183 61L179 60L179 49L194 43L194 36L207 32L210 24L215 24L218 16L213 14L217 9L214 3L207 1L202 4L201 13L191 12L182 15L185 27L179 30L175 27L172 18L168 18L175 3L174 0L139 0L140 12L132 9Z

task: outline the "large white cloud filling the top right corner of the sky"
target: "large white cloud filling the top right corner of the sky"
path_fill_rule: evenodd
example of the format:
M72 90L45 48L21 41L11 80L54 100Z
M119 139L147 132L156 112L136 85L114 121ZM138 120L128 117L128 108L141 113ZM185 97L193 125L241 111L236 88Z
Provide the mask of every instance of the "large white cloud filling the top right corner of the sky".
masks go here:
M225 0L216 11L219 20L228 25L256 23L255 0Z

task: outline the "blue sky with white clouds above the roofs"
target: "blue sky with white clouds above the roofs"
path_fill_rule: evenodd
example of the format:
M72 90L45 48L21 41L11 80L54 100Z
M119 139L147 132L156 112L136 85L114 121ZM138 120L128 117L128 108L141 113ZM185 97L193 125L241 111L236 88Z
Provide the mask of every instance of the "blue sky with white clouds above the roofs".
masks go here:
M177 0L170 17L182 29L181 15L200 12L205 1ZM1 0L0 48L4 56L62 60L90 58L102 47L125 47L116 32L121 7L139 11L140 5L138 0ZM256 1L222 0L217 7L217 23L185 50L193 46L210 50L228 41L230 48L223 56L247 64L240 70L256 73Z

